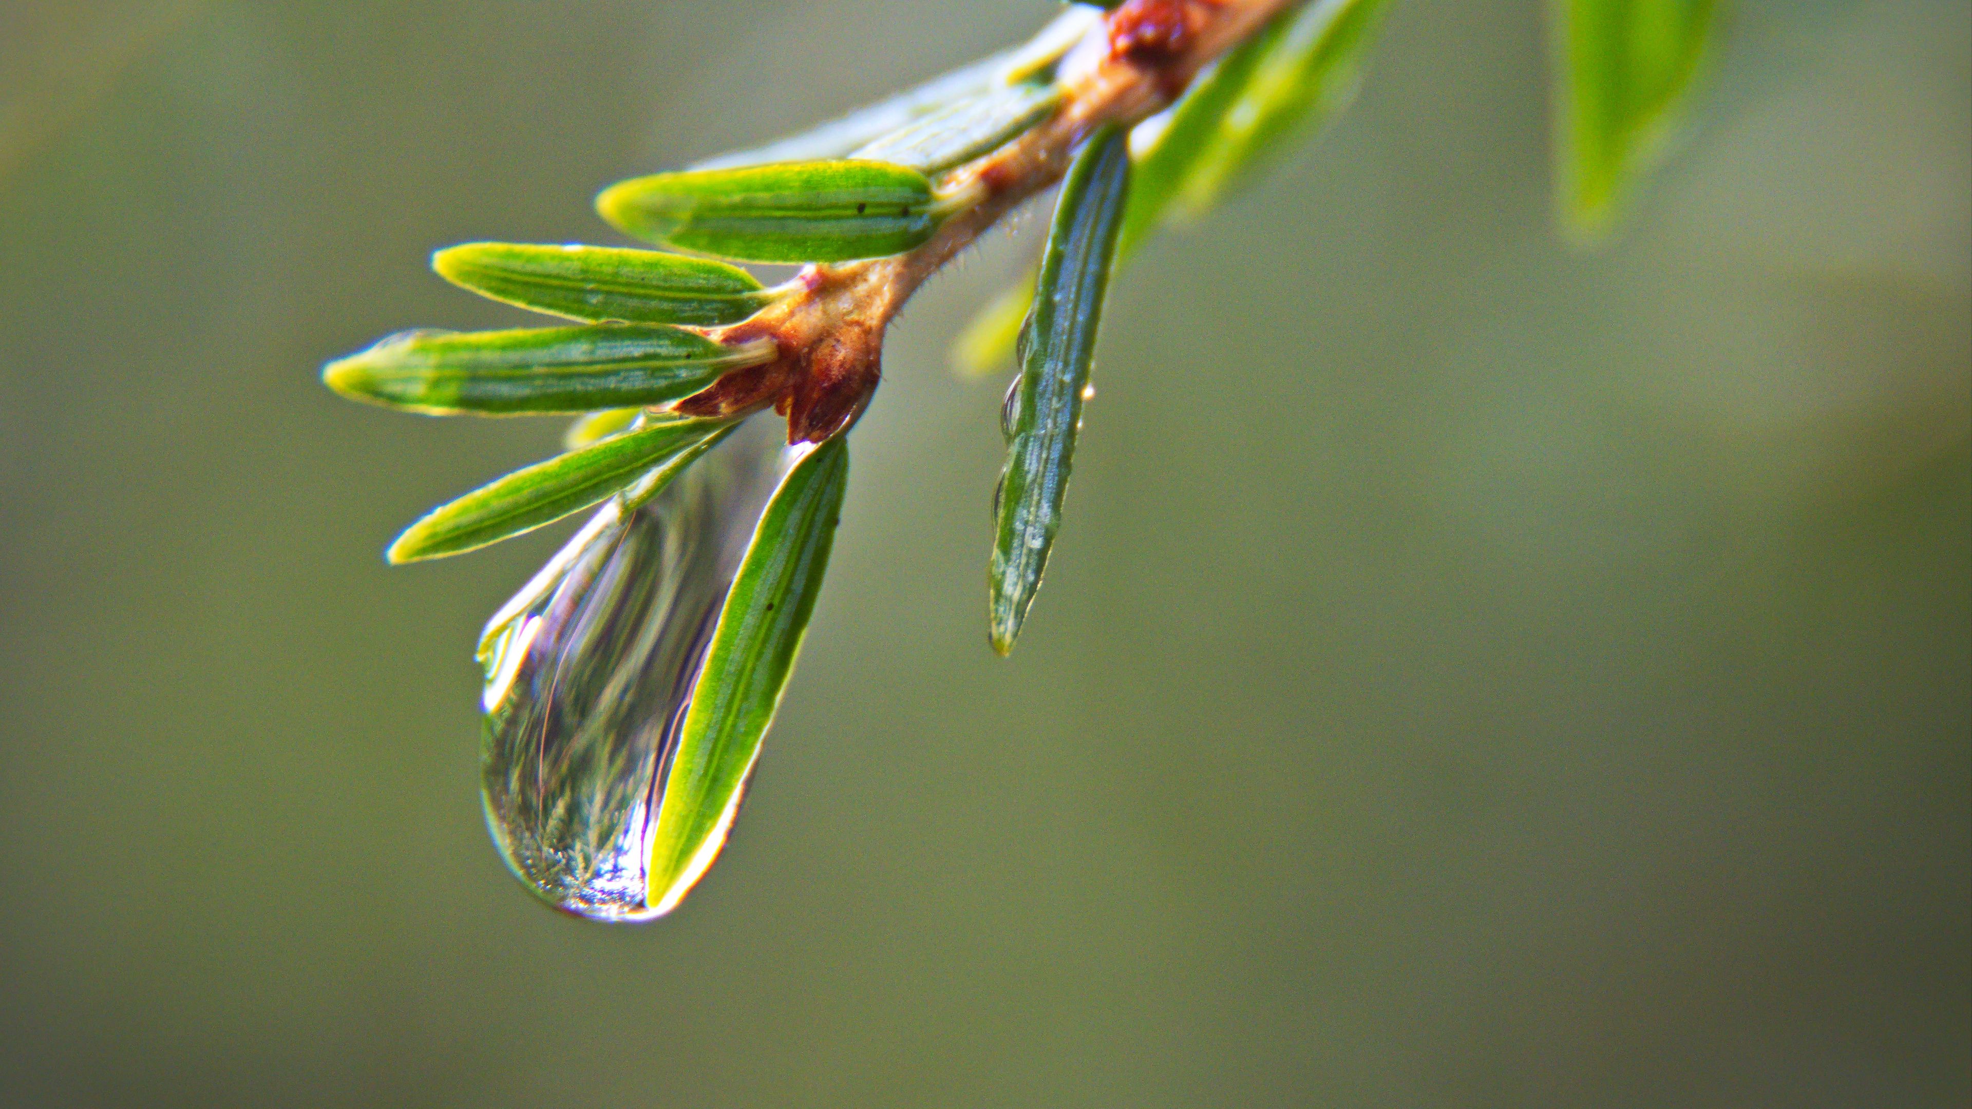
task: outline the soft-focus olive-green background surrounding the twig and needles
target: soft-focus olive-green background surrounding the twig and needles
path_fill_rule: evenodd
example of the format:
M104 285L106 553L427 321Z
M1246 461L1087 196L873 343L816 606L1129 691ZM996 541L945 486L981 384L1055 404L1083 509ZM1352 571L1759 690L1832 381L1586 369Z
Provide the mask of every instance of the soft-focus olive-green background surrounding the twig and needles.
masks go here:
M560 531L379 553L560 424L319 363L1051 8L0 2L0 1101L1972 1097L1962 0L1737 4L1601 255L1542 6L1396 4L1122 282L1010 663L943 355L996 239L891 335L724 862L615 929L505 874L471 641Z

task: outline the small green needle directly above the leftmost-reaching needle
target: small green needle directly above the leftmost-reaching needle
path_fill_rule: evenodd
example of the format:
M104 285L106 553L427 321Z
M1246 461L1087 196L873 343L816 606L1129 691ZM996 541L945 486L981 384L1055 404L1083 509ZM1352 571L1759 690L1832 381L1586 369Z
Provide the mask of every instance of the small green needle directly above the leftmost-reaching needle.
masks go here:
M481 296L590 324L738 324L773 304L753 274L657 251L467 243L432 255L440 276Z

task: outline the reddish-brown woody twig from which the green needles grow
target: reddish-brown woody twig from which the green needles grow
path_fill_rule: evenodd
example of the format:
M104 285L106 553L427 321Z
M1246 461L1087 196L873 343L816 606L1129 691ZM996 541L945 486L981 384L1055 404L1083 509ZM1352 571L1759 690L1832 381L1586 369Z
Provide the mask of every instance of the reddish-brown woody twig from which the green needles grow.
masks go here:
M779 357L741 369L674 408L692 416L773 405L789 442L822 442L850 428L881 379L883 332L931 274L1027 197L1053 185L1098 126L1136 124L1169 105L1211 59L1246 39L1294 0L1128 0L1089 32L1065 67L1061 107L1000 150L941 182L976 197L905 255L816 264L795 296L714 332L726 343L773 339Z

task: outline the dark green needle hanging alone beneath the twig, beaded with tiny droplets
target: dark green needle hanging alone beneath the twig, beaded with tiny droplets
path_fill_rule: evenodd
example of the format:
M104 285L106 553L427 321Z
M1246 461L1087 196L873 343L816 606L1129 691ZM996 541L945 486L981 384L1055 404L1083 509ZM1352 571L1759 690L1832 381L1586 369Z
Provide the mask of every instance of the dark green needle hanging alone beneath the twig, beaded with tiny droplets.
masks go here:
M1110 126L1089 140L1061 185L1033 312L1020 337L1021 375L1006 422L1008 456L988 570L992 645L1002 655L1014 649L1061 529L1083 391L1128 195L1130 144Z

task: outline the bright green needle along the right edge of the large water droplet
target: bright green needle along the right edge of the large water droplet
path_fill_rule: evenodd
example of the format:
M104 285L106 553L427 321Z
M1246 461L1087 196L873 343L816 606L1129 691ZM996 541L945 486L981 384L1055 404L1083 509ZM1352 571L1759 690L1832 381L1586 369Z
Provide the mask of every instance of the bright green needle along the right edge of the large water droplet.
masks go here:
M795 464L753 531L665 777L651 837L657 912L676 906L726 843L801 653L846 487L848 442L832 438Z

